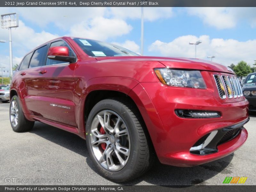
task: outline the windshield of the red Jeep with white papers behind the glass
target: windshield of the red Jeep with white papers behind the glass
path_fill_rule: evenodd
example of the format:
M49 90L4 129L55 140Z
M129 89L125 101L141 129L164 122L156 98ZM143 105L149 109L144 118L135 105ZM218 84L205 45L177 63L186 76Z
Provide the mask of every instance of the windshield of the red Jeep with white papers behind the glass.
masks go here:
M123 47L102 41L81 38L73 38L73 40L87 55L92 57L139 56Z

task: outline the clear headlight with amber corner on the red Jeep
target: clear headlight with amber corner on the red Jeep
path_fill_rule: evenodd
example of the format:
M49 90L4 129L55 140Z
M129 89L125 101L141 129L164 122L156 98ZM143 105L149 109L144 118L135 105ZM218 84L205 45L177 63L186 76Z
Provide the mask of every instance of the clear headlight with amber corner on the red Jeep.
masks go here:
M200 71L156 68L155 73L159 80L165 85L206 89Z

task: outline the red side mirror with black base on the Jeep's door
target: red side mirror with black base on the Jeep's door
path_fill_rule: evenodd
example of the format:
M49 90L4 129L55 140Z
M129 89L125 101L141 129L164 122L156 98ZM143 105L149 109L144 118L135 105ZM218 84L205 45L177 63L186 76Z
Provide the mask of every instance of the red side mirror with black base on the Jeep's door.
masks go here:
M73 63L76 60L75 57L69 57L68 47L64 46L50 47L47 53L47 58L69 63Z

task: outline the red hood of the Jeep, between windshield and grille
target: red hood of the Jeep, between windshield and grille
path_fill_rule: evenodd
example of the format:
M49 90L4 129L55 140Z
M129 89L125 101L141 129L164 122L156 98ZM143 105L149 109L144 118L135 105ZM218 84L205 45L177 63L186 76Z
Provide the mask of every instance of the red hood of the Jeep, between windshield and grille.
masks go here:
M206 71L217 71L234 74L232 69L214 63L208 60L193 59L193 58L177 58L177 57L144 57L144 56L129 56L129 57L97 57L98 61L115 62L115 61L158 61L168 68L185 68Z

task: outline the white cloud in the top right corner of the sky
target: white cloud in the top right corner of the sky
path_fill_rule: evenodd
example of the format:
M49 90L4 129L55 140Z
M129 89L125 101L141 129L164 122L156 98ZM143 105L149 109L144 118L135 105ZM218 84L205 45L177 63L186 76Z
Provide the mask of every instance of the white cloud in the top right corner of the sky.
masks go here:
M234 28L239 21L256 27L255 7L189 7L189 15L198 16L206 25L218 29Z

